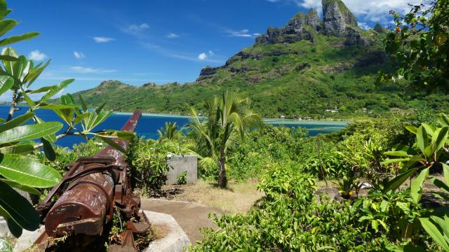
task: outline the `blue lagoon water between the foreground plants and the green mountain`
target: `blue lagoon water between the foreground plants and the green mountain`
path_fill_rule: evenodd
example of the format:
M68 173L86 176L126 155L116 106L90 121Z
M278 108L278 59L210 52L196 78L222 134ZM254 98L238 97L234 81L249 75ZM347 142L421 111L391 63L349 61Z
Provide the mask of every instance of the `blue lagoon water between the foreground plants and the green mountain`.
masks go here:
M15 112L15 116L22 115L26 112L26 107L20 107L20 111ZM9 106L0 105L0 118L6 118L8 115ZM42 118L44 121L60 121L60 118L50 110L39 109L36 111L37 116ZM104 123L100 124L95 130L120 130L121 126L126 123L126 120L130 117L130 113L114 113L112 116L107 118ZM177 123L178 128L189 123L190 118L188 116L173 116L173 115L163 115L163 114L144 114L140 119L136 132L139 137L145 137L150 139L157 139L159 136L157 130L165 127L166 122ZM330 132L335 132L342 130L347 126L347 122L338 121L316 121L316 120L278 120L278 119L267 119L264 120L265 123L272 125L285 125L286 127L305 127L309 130L310 136L316 136L316 134L326 134ZM32 121L30 121L32 122ZM65 130L64 128L61 132ZM58 146L62 147L72 147L74 144L79 144L84 140L77 136L67 136L64 137L56 143Z

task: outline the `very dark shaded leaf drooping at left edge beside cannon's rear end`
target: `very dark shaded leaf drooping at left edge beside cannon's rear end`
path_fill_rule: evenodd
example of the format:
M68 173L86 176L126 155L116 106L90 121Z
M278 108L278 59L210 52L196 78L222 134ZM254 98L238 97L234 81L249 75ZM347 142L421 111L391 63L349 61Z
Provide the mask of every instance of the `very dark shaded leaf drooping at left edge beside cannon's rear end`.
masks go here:
M11 219L26 230L39 228L40 218L33 206L10 186L0 181L0 207Z

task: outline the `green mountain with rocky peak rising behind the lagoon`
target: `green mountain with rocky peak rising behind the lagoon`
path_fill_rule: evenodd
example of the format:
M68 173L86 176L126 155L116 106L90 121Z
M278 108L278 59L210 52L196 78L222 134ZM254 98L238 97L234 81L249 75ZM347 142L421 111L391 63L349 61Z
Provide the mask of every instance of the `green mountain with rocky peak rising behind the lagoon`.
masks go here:
M378 72L392 68L382 47L384 29L376 27L360 29L342 1L323 0L323 18L311 9L285 27L268 28L224 66L204 67L194 83L135 87L106 80L79 94L93 106L109 101L107 108L116 111L188 114L223 90L236 90L262 116L288 118L362 116L429 104L398 84L376 85Z

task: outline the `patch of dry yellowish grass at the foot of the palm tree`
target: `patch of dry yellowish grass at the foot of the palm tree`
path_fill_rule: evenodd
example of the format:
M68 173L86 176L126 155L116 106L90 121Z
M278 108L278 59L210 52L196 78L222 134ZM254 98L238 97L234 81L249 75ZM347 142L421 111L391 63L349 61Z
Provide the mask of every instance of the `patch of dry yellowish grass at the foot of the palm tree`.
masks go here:
M244 214L264 196L257 190L257 183L257 181L229 183L227 189L220 189L214 183L199 180L194 185L182 186L182 193L175 195L173 200L196 202L228 214Z

